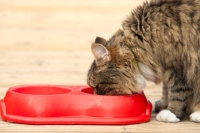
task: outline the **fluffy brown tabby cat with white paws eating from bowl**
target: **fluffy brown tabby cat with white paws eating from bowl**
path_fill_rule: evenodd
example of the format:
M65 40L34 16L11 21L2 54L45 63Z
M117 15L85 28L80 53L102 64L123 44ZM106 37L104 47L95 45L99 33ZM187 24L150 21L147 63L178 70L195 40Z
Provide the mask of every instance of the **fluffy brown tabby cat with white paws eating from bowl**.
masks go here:
M97 37L87 83L99 95L140 93L162 82L158 121L200 122L200 0L151 0L133 10L109 40Z

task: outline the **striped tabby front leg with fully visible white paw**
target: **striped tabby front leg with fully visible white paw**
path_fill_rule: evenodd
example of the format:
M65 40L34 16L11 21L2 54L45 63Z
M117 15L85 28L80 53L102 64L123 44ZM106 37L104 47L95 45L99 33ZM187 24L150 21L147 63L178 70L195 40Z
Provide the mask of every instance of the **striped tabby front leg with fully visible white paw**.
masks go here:
M168 70L167 75L165 82L168 87L168 106L160 111L156 118L163 122L179 122L185 116L186 102L193 91L181 73Z

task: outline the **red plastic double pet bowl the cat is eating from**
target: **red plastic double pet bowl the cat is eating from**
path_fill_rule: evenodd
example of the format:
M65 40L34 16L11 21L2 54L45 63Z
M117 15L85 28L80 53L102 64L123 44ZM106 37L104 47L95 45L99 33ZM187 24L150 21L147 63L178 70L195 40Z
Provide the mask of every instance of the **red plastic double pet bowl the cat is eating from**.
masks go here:
M4 121L26 124L134 124L148 122L151 103L144 93L94 95L88 86L11 87L0 101Z

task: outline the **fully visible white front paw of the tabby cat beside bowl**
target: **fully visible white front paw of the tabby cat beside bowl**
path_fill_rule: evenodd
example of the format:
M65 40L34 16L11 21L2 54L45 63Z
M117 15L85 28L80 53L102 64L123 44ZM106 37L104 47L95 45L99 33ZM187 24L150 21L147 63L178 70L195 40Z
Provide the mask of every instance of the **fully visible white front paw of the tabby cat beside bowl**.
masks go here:
M158 115L156 116L156 119L162 122L179 122L180 121L180 119L177 118L174 113L166 109L160 111Z

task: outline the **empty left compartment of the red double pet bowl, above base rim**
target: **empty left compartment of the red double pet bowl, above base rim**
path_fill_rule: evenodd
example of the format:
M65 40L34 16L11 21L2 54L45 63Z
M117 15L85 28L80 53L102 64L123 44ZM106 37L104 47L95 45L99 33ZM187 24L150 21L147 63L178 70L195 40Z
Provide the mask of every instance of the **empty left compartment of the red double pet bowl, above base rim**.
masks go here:
M6 113L28 117L63 116L64 100L71 92L63 86L19 86L10 88L4 98Z

